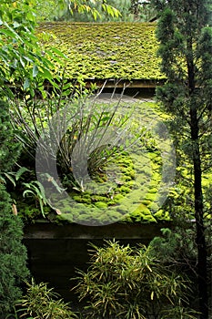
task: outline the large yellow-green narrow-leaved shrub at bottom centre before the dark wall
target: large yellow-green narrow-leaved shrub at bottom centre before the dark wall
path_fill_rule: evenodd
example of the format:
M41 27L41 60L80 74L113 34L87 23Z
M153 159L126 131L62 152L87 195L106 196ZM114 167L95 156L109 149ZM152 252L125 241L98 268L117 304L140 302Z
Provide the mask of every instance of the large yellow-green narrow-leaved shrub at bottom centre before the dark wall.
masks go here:
M92 248L90 266L78 271L74 288L80 301L88 300L85 318L195 318L185 308L189 283L169 271L150 246L106 242Z

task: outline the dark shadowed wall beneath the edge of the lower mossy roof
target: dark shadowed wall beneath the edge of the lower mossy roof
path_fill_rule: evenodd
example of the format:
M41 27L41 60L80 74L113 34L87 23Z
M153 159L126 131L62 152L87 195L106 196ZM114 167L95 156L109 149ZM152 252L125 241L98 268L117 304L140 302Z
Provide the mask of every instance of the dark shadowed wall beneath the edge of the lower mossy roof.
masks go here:
M170 225L170 224L169 224ZM160 229L168 227L161 224L111 224L101 227L69 224L57 226L51 223L36 223L25 227L24 242L28 250L29 268L35 282L49 283L55 287L66 301L76 299L70 289L76 276L76 268L86 270L89 260L89 242L100 246L104 240L114 238L123 243L136 246L147 244Z

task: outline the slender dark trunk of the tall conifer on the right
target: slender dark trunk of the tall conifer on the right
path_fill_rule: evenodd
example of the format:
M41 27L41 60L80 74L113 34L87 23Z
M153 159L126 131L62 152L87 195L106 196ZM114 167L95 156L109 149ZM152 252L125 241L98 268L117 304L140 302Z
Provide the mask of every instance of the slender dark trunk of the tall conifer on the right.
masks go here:
M187 41L189 52L192 52L191 39ZM197 244L197 285L199 297L200 319L208 319L208 296L207 296L207 242L204 227L204 210L202 194L202 165L199 149L199 123L197 118L196 102L192 103L192 95L195 92L195 67L193 57L187 57L188 88L190 95L190 129L192 141L192 157L194 168L194 191L195 191L195 218L196 218L196 244Z

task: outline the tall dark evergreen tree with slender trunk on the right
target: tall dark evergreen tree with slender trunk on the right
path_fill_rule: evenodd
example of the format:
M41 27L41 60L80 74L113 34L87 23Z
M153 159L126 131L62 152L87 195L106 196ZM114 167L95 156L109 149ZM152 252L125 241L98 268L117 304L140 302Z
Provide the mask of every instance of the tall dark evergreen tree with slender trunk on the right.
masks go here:
M203 171L211 168L211 0L152 0L160 19L158 54L167 83L157 98L172 115L178 145L192 164L201 319L208 318L207 242ZM181 143L181 144L180 144Z

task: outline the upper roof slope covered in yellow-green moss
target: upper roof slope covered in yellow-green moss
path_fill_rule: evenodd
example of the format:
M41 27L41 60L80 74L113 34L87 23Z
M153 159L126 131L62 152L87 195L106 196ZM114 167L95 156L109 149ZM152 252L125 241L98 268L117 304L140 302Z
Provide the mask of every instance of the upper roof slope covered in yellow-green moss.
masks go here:
M156 57L156 24L43 23L38 35L68 57L73 79L127 79L157 82L165 78Z

